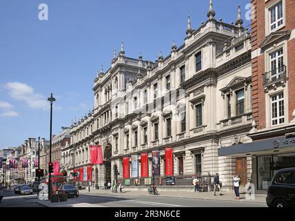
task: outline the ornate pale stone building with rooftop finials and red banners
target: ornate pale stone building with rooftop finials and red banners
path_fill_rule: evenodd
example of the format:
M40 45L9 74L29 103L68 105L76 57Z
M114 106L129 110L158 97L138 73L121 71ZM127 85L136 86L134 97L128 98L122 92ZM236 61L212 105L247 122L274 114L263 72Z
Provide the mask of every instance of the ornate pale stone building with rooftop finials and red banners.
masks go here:
M148 153L151 177L155 150L164 177L165 148L172 147L176 177L219 173L231 189L239 173L245 184L251 157L218 157L218 148L250 142L251 77L251 36L241 8L235 24L216 21L210 1L207 21L193 29L189 17L184 44L174 43L167 57L126 57L123 44L114 53L110 69L94 80L94 111L72 125L68 162L74 150L75 168L90 165L89 146L101 145L103 164L93 166L93 179L103 186L122 179L123 157L139 155L140 176L141 153Z

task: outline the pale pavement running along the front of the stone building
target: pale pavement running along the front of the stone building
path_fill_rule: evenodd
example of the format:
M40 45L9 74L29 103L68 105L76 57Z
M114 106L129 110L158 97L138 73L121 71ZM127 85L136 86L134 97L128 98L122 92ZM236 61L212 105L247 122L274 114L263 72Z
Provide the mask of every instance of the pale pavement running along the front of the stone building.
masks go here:
M165 197L165 198L190 198L190 199L199 199L199 200L225 200L225 201L240 201L240 202L256 202L256 203L265 203L266 195L255 195L253 200L246 199L245 194L240 193L240 200L235 200L234 192L231 191L223 191L223 195L219 195L219 192L216 192L214 195L213 192L200 192L195 193L194 191L161 191L159 190L159 195L149 195L148 189L146 191L135 191L135 190L127 190L125 189L123 193L112 193L110 190L96 190L90 189L90 193L88 189L79 191L80 194L83 195L96 195L96 194L108 194L114 196L151 196L151 197Z

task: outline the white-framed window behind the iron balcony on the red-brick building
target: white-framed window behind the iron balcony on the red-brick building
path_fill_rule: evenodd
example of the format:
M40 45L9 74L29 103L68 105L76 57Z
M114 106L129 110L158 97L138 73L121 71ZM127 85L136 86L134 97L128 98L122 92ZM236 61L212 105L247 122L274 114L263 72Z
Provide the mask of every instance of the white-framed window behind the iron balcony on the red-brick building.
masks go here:
M283 48L269 54L272 81L281 78L284 72Z

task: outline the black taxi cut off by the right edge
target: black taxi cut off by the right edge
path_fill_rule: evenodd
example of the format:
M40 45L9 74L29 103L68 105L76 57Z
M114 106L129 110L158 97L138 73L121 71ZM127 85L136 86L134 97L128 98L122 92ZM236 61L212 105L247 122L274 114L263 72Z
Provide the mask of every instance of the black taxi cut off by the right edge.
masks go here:
M295 206L295 168L276 173L268 187L266 203L269 207Z

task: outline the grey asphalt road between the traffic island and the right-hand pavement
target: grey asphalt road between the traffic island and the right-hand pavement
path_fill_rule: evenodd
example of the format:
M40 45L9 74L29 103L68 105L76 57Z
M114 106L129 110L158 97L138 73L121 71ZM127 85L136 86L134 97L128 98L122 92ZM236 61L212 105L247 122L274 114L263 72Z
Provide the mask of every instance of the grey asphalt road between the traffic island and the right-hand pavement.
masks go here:
M39 200L30 200L40 202ZM79 198L70 198L68 202L50 203L52 207L267 207L265 203L234 202L225 200L199 200L188 198L165 198L159 196L118 196L80 195Z

